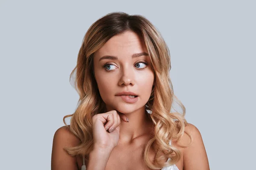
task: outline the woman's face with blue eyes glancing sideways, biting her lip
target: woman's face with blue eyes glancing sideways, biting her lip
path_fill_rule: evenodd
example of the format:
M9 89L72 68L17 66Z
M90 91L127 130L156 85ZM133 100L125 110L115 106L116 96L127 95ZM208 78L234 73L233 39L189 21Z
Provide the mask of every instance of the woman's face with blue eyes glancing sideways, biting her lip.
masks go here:
M139 53L143 54L136 55ZM132 31L112 37L95 52L95 78L108 111L131 113L145 106L154 83L150 62L143 40ZM122 91L131 91L137 97L116 96Z

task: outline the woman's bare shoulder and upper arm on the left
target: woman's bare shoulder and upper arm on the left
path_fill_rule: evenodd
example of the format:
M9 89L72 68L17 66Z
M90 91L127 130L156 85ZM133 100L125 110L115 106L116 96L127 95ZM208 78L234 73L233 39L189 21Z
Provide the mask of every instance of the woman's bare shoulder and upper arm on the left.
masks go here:
M56 130L52 142L52 170L78 170L76 157L70 156L65 147L79 144L79 139L70 132L69 127L63 126Z

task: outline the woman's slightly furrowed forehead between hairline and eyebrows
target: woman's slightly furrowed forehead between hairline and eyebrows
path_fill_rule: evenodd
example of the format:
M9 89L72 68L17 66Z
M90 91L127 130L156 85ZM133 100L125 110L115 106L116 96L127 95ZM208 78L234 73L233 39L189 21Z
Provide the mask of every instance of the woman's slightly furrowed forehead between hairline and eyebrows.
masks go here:
M126 31L111 37L98 51L95 57L103 55L115 55L117 57L131 57L134 53L147 52L142 38L132 32Z

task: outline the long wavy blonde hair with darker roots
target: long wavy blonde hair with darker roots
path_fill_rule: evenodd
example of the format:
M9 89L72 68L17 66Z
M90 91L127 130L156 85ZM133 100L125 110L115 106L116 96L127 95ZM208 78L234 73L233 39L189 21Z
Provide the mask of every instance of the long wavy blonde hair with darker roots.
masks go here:
M71 156L81 155L88 159L87 156L93 148L92 116L106 112L105 103L94 78L93 55L111 37L125 31L134 31L142 37L154 70L155 85L145 105L151 112L148 115L154 124L154 136L145 144L144 161L149 168L159 169L180 160L180 150L169 145L169 142L171 139L179 140L188 123L184 117L186 109L173 93L169 77L169 48L157 28L142 15L112 12L93 23L86 32L79 50L77 65L70 74L70 80L73 74L76 74L74 88L79 94L78 107L73 114L63 118L64 124L80 139L80 144L64 149ZM182 114L172 107L175 99L182 109ZM172 108L176 112L170 113ZM68 126L65 118L70 116L72 117ZM150 148L156 153L154 162L151 162L148 156ZM166 162L168 158L171 161Z

